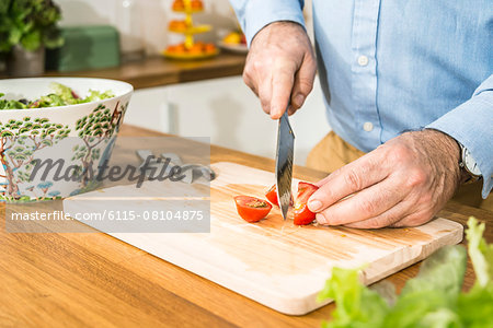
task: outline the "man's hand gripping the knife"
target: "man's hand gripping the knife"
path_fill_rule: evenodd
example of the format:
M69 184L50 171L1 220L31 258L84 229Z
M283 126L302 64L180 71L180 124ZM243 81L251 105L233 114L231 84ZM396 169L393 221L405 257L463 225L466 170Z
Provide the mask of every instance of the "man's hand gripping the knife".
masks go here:
M293 22L275 22L253 38L243 71L244 83L259 96L262 108L279 118L290 98L289 115L305 103L317 70L310 39Z

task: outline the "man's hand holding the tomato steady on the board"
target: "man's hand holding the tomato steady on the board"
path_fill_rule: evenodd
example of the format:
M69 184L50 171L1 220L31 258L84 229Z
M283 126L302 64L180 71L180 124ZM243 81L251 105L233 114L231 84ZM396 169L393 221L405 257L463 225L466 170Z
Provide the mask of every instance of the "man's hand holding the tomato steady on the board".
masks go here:
M406 132L320 180L308 207L321 224L420 225L454 196L461 180L459 159L450 137Z

